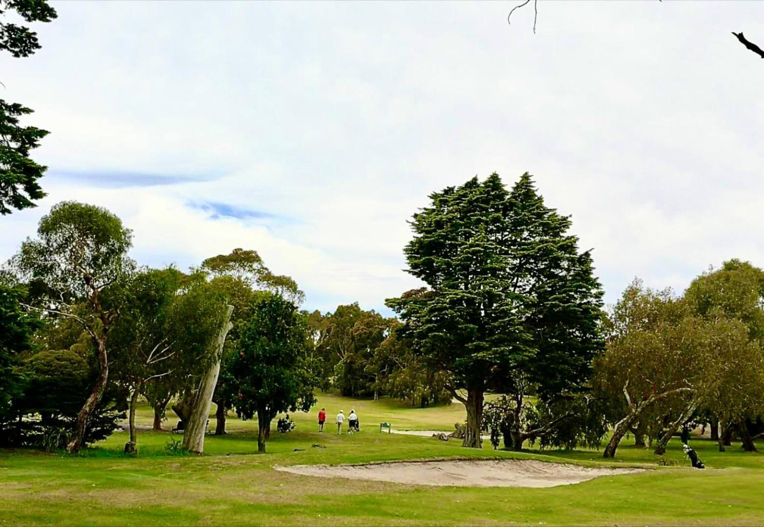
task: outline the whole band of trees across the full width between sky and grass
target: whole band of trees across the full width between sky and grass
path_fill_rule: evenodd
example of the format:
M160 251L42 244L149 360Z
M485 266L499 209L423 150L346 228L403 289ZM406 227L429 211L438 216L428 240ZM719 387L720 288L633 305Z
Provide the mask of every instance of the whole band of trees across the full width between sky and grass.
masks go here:
M76 452L141 398L168 406L202 452L228 411L257 419L258 451L280 412L317 390L466 409L464 445L520 450L623 438L665 451L710 429L720 450L764 432L764 271L729 260L683 295L635 280L605 309L591 251L529 174L493 174L430 196L411 221L409 270L426 286L387 299L398 318L352 303L300 309L304 294L256 251L183 272L141 267L105 209L53 206L0 270L0 444ZM490 397L486 397L491 393Z

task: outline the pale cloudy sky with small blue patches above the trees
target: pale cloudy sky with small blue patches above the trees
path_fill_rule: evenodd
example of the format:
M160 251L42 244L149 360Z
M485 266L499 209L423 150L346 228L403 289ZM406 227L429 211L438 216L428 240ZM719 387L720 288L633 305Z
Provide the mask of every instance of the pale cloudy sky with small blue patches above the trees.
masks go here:
M762 266L762 2L51 2L0 97L50 131L47 198L0 217L0 260L50 206L102 205L131 256L254 249L306 309L384 299L427 196L532 173L593 249L605 299Z

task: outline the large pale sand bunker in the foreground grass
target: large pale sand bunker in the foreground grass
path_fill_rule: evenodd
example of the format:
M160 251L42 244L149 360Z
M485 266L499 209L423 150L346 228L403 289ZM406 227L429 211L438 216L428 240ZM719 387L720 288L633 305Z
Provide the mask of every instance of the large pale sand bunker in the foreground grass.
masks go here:
M579 467L508 459L487 461L393 461L359 465L293 465L276 470L319 477L458 487L556 487L600 476L643 472L640 468Z

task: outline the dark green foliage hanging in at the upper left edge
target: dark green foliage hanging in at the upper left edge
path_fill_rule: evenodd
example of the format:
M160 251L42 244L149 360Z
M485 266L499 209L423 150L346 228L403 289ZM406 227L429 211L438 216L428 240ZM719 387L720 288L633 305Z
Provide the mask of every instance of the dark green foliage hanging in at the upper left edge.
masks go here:
M0 0L0 17L9 11L15 11L26 22L50 22L57 17L46 0ZM0 19L0 51L20 58L39 49L37 33ZM37 179L44 176L47 167L35 163L30 152L48 132L21 125L20 118L31 113L24 105L0 99L0 215L34 207L34 200L45 196Z

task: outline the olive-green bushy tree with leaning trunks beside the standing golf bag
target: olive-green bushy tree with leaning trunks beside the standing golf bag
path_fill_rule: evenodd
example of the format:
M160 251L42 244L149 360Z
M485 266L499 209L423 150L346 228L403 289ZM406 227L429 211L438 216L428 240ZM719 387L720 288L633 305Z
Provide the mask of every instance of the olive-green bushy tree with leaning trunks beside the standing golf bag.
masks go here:
M740 321L720 311L695 316L670 290L652 291L639 280L626 288L609 319L607 349L595 360L597 393L610 400L614 422L604 457L616 454L639 421L654 421L646 428L661 432L656 454L662 454L698 408L733 422L762 408L764 356Z

